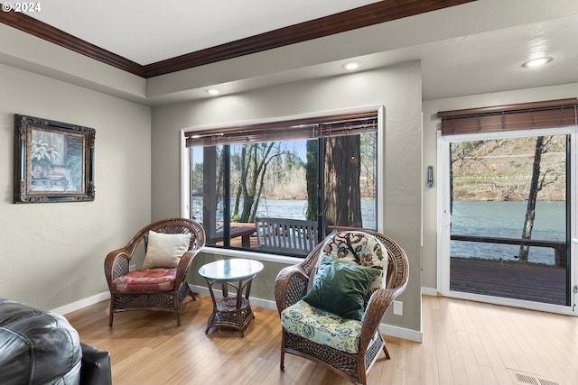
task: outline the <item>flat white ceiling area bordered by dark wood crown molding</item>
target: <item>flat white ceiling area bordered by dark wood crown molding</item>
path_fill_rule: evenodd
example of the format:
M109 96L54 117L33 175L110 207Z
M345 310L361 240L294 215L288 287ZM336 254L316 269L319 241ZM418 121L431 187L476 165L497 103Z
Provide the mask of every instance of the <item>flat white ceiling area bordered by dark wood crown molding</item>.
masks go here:
M376 0L51 0L29 15L146 65ZM282 17L280 17L282 15Z

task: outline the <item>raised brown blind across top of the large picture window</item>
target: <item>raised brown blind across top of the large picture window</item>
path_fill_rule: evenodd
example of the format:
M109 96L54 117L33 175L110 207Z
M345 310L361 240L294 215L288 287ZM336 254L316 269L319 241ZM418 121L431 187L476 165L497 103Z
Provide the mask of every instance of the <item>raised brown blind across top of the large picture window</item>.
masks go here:
M219 129L185 132L187 147L219 144L284 142L322 137L375 133L378 112L322 116L284 122L235 125Z

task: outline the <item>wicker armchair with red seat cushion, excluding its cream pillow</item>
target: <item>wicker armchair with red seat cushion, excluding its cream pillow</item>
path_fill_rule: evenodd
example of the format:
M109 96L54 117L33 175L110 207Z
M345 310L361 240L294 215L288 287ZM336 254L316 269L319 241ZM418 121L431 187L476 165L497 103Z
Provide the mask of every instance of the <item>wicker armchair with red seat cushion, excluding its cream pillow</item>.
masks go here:
M144 243L146 252L149 244L149 231L154 232L154 236L191 234L190 241L185 237L184 244L181 245L182 249L178 251L178 255L181 255L181 251L184 252L180 260L175 260L176 267L141 268L129 271L131 259L140 243ZM204 245L205 232L202 225L191 219L167 218L144 226L125 247L109 252L105 259L105 275L110 290L108 326L112 326L115 313L127 310L173 312L177 317L177 326L180 326L179 309L182 301L187 295L191 295L191 298L195 300L186 280L187 272L193 258Z

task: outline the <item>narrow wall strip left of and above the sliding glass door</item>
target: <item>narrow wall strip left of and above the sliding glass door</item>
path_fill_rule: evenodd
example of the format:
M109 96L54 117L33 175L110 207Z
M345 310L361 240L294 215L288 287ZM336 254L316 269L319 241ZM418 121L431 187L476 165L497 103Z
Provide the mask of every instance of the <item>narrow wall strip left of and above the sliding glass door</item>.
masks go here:
M564 99L578 96L578 83L518 89L491 94L451 97L424 101L424 164L436 166L436 131L441 129L438 111L459 110L491 105L511 105L542 100ZM437 170L434 175L437 177ZM436 179L436 188L441 181ZM436 188L424 189L424 260L422 285L434 291L437 288L437 228Z

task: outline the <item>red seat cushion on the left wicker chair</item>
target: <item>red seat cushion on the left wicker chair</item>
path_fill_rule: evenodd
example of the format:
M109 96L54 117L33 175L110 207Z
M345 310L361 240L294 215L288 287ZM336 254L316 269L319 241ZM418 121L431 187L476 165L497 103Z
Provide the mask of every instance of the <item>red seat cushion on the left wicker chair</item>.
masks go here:
M112 289L117 293L171 291L176 275L177 270L170 268L133 270L113 280Z

